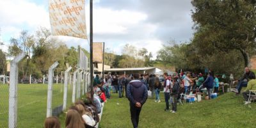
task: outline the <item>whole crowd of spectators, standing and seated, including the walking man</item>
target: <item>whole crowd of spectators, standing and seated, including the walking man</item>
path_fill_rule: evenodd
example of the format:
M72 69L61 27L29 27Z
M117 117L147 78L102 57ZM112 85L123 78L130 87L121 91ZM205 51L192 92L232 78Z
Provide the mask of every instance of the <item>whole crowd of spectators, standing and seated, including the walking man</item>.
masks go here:
M120 98L126 97L130 102L131 121L134 127L138 127L140 111L148 99L148 95L155 97L155 102L161 102L160 91L163 89L164 101L166 107L164 111L177 113L177 101L184 99L183 95L198 94L204 90L207 92L207 98L211 99L211 93L218 93L219 78L214 76L209 70L207 76L204 74L196 74L192 72L181 72L174 76L163 74L164 81L154 74L132 74L132 75L106 75L105 79L100 79L99 75L93 79L93 100L88 98L85 100L77 100L74 106L67 111L65 126L69 127L95 127L99 122L99 113L102 111L102 103L111 99L112 93L118 93ZM243 92L244 104L249 104L248 94L250 90L256 90L255 74L248 67L244 69L244 76L237 80L237 95L241 92L241 88L246 86ZM214 91L213 91L214 90ZM151 94L149 94L151 93ZM170 109L170 103L172 109ZM45 119L45 127L60 127L60 121L56 117Z

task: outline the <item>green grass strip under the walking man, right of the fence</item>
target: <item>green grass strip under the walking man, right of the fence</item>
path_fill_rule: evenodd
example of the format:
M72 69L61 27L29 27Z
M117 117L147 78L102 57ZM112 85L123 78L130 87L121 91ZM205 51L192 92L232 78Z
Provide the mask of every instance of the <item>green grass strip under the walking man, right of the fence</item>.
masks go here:
M241 95L226 93L217 99L178 105L177 113L164 111L163 93L161 100L160 103L147 100L139 127L255 127L256 103L243 105ZM128 100L114 94L104 106L100 127L132 127Z

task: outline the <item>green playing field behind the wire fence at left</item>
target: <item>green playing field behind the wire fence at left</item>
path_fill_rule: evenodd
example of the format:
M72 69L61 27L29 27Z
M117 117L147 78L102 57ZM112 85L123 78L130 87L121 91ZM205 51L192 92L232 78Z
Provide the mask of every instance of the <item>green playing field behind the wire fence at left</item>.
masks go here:
M61 90L62 88L62 90ZM8 127L9 87L0 84L0 127ZM67 107L72 100L72 88L68 86ZM52 109L63 104L63 84L54 84ZM47 109L47 84L18 85L18 127L44 127Z

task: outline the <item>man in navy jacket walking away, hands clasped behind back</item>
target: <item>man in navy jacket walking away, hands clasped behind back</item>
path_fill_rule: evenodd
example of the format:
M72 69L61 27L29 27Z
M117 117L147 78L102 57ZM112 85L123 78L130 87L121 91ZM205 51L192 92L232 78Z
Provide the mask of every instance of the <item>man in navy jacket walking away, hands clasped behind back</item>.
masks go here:
M147 86L139 80L139 74L127 85L127 98L130 101L131 120L134 128L138 127L140 111L148 98Z

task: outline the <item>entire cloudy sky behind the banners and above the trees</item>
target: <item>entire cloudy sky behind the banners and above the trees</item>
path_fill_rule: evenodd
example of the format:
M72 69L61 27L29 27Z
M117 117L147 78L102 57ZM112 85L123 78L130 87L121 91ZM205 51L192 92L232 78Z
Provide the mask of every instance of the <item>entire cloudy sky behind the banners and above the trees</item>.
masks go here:
M51 28L47 0L0 0L0 3L0 41L4 44L19 36L21 30L33 33L40 26ZM87 26L88 3L87 0ZM188 0L94 0L93 42L106 42L106 47L116 54L122 52L125 44L145 47L156 57L164 43L186 42L193 36L192 8ZM68 46L89 49L87 40L59 38Z

